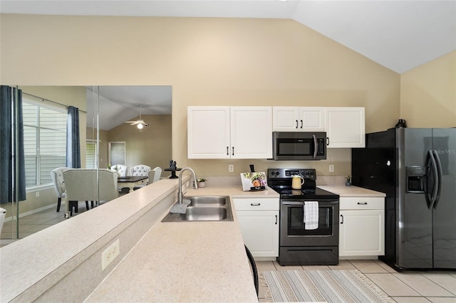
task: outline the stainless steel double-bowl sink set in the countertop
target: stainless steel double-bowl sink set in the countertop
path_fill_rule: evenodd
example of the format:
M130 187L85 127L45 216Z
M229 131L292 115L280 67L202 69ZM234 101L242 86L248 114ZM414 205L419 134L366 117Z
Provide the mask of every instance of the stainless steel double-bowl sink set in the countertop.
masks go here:
M186 213L168 213L162 222L232 221L229 196L189 196Z

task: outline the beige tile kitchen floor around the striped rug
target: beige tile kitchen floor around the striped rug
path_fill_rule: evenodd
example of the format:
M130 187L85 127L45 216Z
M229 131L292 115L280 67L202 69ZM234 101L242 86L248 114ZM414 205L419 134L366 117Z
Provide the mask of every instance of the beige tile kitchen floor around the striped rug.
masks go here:
M396 302L456 303L456 271L396 272L380 260L341 260L337 266L281 266L257 261L258 272L270 270L359 270ZM259 302L267 302L267 287L259 287Z

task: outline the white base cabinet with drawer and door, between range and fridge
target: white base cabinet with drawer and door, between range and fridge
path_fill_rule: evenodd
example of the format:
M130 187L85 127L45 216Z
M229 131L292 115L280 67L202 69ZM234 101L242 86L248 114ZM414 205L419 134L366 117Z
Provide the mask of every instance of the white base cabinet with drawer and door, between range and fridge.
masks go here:
M385 198L341 197L339 257L385 255Z

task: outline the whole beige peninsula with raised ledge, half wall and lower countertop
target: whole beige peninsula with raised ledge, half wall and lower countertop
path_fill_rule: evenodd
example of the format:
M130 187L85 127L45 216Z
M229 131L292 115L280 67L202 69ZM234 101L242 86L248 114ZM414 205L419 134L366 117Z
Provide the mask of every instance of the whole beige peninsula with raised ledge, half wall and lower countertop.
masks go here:
M162 223L176 189L160 180L0 248L0 301L257 302L234 206L232 222ZM240 184L192 195L279 198ZM120 256L102 272L116 239Z

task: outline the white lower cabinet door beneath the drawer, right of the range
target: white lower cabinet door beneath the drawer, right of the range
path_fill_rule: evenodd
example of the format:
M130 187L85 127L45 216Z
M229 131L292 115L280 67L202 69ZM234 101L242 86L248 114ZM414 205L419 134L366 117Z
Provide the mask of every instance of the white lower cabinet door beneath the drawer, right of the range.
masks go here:
M383 210L340 211L339 256L385 254Z

